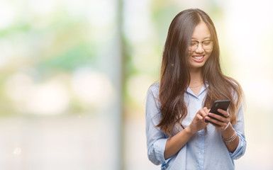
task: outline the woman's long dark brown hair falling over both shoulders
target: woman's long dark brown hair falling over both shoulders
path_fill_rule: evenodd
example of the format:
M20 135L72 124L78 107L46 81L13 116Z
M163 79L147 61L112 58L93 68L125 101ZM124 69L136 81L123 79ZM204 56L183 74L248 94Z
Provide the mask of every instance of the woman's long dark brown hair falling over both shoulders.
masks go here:
M237 122L236 113L242 101L243 91L237 81L226 77L221 71L216 28L204 11L198 8L187 9L178 13L170 24L162 56L159 94L162 118L157 127L169 136L175 125L182 125L182 120L187 114L184 94L191 80L187 50L194 28L201 21L208 26L213 40L211 56L202 67L204 84L208 83L204 106L211 108L213 101L229 99L230 121L232 124Z

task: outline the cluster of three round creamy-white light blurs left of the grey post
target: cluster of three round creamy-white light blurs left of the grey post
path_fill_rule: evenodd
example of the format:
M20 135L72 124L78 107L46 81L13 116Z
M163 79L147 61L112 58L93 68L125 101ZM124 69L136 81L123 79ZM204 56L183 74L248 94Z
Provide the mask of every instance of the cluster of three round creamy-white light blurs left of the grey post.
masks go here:
M63 114L72 97L82 107L95 110L107 108L114 98L113 84L108 77L84 68L72 76L55 75L38 84L27 74L18 73L6 80L4 91L18 113L35 115Z

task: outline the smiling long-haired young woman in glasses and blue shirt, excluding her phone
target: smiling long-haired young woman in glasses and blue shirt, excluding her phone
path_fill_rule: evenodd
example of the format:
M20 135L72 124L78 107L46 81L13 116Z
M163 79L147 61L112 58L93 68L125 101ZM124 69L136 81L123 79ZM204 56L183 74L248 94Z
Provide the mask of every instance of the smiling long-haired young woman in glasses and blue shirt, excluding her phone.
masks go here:
M178 13L169 26L160 82L147 92L148 158L162 169L235 169L233 159L246 148L242 98L240 84L221 72L211 18L200 9ZM228 111L218 109L224 116L209 112L213 101L226 99Z

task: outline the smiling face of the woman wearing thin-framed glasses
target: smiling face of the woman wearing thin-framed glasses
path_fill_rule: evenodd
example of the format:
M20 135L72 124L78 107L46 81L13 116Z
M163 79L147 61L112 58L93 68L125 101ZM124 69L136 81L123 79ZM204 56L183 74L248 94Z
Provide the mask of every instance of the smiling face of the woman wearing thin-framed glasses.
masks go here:
M211 40L211 32L208 26L206 26L206 23L201 21L201 23L194 28L194 33L192 33L191 36L191 45L188 50L188 64L190 69L201 69L206 63L206 60L208 60L208 57L211 56L212 47L209 48L208 43L212 43L211 45L213 45L213 42L209 40ZM196 43L197 48L195 50L194 44ZM206 50L204 50L204 48Z

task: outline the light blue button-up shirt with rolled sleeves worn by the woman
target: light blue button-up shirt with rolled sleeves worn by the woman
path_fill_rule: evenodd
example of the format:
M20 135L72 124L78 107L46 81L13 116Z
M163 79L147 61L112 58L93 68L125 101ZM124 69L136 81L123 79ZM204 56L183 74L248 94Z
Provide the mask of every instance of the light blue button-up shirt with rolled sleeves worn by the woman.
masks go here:
M150 86L146 98L146 137L147 155L153 164L161 164L161 169L235 169L234 159L243 156L246 148L243 108L238 109L237 123L233 125L240 139L238 147L233 153L229 152L222 140L221 132L209 123L206 130L196 132L182 149L169 159L164 158L165 145L168 135L162 132L156 125L160 122L160 103L157 101L159 94L159 83ZM203 101L206 98L206 87L203 86L198 96L195 96L191 89L186 90L184 101L188 108L188 114L182 121L184 127L188 126L194 116L203 108ZM177 126L172 135L183 130Z

